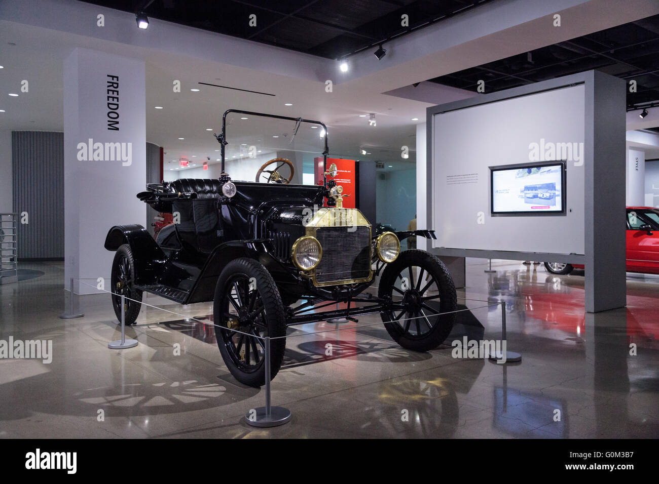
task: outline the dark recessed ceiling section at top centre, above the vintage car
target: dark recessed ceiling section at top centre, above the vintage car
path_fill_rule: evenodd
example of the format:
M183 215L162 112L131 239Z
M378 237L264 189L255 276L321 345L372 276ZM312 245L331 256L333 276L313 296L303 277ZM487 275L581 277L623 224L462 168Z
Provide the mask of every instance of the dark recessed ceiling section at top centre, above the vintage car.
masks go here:
M82 1L337 59L494 0ZM403 14L409 27L401 26Z

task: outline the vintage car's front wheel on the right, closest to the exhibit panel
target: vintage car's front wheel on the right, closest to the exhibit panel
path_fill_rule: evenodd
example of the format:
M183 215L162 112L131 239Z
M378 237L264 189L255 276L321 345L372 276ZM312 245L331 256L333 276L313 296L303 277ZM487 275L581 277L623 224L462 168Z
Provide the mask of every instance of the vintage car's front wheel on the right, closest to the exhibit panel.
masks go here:
M418 272L413 267L418 267ZM428 277L424 279L426 274ZM403 282L404 278L407 283ZM457 309L453 279L444 263L424 250L406 250L387 264L380 278L378 296L390 297L406 306L405 310L380 313L387 333L403 348L433 350L453 329L455 313L439 315Z

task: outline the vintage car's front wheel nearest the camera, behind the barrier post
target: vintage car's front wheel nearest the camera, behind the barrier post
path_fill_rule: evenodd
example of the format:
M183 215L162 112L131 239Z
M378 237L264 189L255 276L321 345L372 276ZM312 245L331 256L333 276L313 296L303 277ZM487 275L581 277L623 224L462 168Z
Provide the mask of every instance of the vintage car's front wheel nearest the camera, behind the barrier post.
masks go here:
M252 277L256 288L250 288ZM213 315L217 346L231 375L249 387L264 385L264 341L232 329L255 336L269 335L271 338L286 334L281 296L268 269L245 257L229 262L217 279ZM270 379L277 375L281 367L285 348L285 338L271 340Z

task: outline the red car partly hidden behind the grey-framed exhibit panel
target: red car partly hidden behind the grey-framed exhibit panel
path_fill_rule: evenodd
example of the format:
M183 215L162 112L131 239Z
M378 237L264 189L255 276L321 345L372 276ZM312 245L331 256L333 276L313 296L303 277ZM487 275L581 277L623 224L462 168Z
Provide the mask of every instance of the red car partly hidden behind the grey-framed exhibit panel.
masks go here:
M659 209L627 207L627 272L659 274ZM583 264L545 262L553 274L569 274Z

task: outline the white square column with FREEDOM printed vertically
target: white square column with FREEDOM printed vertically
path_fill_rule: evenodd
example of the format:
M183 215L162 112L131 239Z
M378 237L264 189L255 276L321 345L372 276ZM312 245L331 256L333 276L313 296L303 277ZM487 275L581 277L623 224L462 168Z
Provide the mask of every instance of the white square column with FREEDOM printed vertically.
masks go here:
M109 278L113 225L146 225L144 61L76 48L64 61L65 285ZM109 289L109 279L105 289ZM95 288L74 284L74 292Z

